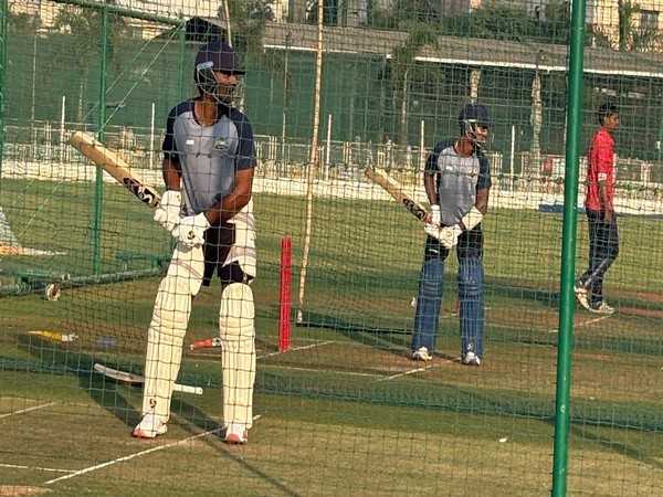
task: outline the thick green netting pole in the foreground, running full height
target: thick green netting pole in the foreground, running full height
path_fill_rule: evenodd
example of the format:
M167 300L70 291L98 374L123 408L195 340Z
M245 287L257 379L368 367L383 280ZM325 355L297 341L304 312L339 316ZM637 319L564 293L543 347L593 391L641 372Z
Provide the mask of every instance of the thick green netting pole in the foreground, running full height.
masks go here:
M557 392L555 408L555 452L552 457L552 496L567 494L571 353L573 348L573 281L578 204L578 156L582 123L582 62L585 41L585 2L576 0L571 10L569 80L567 97L567 142L561 241L561 299L557 342Z

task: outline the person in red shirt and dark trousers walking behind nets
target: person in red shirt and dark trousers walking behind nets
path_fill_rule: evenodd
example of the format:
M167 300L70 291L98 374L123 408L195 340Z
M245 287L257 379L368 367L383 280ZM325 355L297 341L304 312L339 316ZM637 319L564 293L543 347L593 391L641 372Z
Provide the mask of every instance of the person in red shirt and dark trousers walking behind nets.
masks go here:
M587 152L585 210L589 224L589 267L576 281L576 298L587 310L610 315L614 309L603 300L603 276L619 254L619 233L614 215L613 134L619 128L619 112L602 104L598 112L601 127L593 135Z

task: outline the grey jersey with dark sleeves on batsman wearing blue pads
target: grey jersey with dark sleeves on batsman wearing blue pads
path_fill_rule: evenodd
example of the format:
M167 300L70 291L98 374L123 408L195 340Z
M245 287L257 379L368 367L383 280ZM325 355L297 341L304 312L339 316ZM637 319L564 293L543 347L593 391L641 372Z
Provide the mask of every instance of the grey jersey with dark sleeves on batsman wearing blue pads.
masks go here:
M488 159L480 151L470 157L456 154L454 141L439 142L429 156L425 171L436 175L442 224L457 224L476 203L476 192L491 188Z

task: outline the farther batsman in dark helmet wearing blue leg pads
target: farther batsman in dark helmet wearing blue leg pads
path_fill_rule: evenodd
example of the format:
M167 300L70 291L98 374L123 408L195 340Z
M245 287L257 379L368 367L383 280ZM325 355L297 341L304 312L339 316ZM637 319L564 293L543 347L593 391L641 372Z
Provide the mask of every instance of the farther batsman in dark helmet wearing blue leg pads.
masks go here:
M492 126L488 108L467 104L459 115L460 136L440 141L429 156L424 187L431 203L427 219L423 267L419 282L412 359L430 361L444 287L444 261L455 248L459 258L461 361L483 361L483 232L488 208L491 170L485 148Z

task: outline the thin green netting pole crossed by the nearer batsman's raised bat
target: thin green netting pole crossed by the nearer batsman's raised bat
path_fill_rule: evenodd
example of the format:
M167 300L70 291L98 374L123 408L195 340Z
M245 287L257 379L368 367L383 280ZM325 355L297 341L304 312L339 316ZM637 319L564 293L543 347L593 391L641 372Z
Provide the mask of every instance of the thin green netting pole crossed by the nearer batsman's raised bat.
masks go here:
M106 126L106 57L108 54L108 10L102 11L101 52L99 52L99 102L97 112L97 139L104 141ZM102 214L104 210L104 171L95 168L94 220L92 226L92 269L94 274L102 273Z

